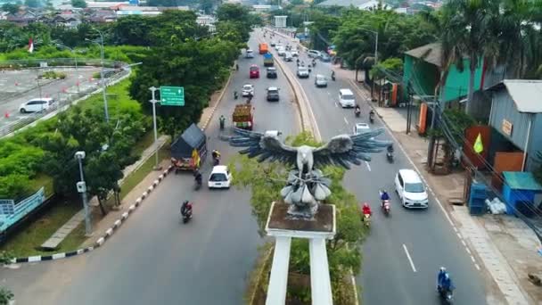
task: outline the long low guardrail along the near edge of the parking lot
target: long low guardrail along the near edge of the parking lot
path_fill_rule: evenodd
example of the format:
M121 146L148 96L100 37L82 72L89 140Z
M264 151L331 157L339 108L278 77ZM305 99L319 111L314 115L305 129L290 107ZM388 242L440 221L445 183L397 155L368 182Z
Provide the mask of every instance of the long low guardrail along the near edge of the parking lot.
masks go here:
M114 85L120 80L127 78L129 74L130 70L121 70L119 73L113 74L111 78L105 78L106 87ZM56 104L53 107L45 111L31 113L24 119L16 120L10 124L4 125L2 128L0 128L0 137L10 136L14 132L21 130L22 128L25 128L37 120L41 120L47 116L53 117L53 115L56 113L70 108L72 104L78 103L79 100L85 99L87 96L93 95L100 91L102 91L101 86L93 86L84 90L78 90L78 92L70 93L67 91L66 93L58 93Z

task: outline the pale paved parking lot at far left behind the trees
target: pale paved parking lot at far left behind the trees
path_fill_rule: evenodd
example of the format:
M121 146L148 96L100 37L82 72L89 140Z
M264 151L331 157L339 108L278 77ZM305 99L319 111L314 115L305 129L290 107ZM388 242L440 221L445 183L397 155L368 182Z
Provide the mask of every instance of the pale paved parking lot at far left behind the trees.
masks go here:
M21 113L19 106L33 98L51 97L55 101L66 99L68 95L85 92L99 85L99 79L93 79L99 68L83 67L79 69L47 69L64 72L64 79L37 79L44 70L15 70L0 72L0 129L9 124L33 115Z

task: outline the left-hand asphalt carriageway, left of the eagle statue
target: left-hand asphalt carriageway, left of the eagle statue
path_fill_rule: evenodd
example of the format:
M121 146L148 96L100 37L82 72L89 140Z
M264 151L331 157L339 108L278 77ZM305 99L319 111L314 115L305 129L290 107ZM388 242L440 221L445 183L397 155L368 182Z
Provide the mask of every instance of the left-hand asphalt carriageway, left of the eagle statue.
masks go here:
M250 47L257 43L250 40ZM236 151L218 139L218 117L231 117L233 92L254 84L255 129L299 132L292 91L282 73L277 79L249 79L249 66L263 66L261 55L240 58L239 71L207 129L209 150L223 161ZM281 101L267 103L265 88L281 87ZM230 120L226 121L230 124ZM203 167L209 175L210 158ZM193 221L179 218L180 202L194 202ZM243 303L246 280L263 240L251 215L250 192L232 188L193 191L192 175L171 175L128 218L103 248L67 260L3 269L17 304L232 304ZM38 301L37 301L38 300Z

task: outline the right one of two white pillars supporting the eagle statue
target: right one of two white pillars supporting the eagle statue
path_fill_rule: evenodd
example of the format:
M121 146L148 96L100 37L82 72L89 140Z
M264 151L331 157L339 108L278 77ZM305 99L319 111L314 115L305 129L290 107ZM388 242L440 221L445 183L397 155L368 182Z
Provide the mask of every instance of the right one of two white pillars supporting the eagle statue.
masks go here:
M310 293L313 305L333 305L332 283L329 276L324 238L308 241L310 254Z

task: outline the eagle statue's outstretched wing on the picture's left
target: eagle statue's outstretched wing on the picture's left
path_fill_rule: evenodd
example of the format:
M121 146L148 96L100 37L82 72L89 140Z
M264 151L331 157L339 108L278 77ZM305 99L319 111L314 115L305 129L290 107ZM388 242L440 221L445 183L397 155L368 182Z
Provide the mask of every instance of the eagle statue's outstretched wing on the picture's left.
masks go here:
M295 165L297 149L281 143L276 136L267 136L263 133L234 128L233 136L229 143L234 147L246 147L239 153L248 155L249 158L259 157L258 161L281 161L289 165Z

